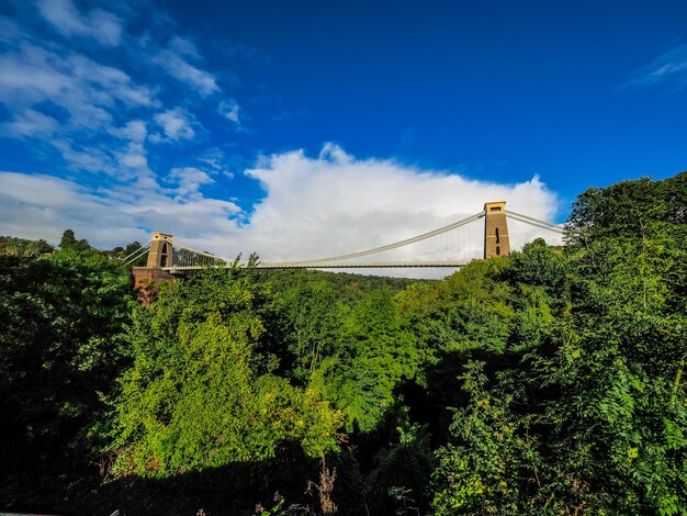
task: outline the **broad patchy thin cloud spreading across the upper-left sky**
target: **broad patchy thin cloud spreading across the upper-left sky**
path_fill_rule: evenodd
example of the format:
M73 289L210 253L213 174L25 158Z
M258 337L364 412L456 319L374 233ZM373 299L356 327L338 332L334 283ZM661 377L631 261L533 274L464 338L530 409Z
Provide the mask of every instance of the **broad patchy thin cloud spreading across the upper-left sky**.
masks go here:
M125 47L116 57L100 54L90 58L80 51L80 44L48 42L31 24L22 25L21 18L12 22L0 16L0 27L7 29L0 35L4 43L0 51L0 102L9 110L0 123L0 136L33 138L38 141L36 145L55 147L67 165L56 164L57 173L65 169L104 172L128 181L132 173L150 176L148 143L188 142L203 130L188 110L166 109L159 94L169 82L156 66L160 64L190 81L195 91L174 90L172 96L188 105L219 91L212 75L190 65L201 59L193 42L174 35L160 45L173 22L161 22L144 44L123 32L121 19L102 10L80 11L72 0L40 0L38 8L66 36L92 36L103 44L124 43ZM137 66L147 65L145 78L153 82L142 82L143 75L134 79L124 71L132 58ZM153 134L148 134L145 117L155 120L159 131L153 124Z

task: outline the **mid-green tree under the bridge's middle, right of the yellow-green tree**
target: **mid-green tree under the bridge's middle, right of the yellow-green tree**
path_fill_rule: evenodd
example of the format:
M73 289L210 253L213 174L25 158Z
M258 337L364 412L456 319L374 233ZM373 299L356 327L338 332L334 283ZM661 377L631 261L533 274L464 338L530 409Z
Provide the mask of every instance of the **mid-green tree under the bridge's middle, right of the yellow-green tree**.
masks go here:
M279 332L289 352L282 349L280 358L289 364L286 374L346 414L348 431L371 431L393 406L401 382L419 373L426 354L391 290L376 288L351 300L348 287L341 291L325 281L333 276L282 284Z

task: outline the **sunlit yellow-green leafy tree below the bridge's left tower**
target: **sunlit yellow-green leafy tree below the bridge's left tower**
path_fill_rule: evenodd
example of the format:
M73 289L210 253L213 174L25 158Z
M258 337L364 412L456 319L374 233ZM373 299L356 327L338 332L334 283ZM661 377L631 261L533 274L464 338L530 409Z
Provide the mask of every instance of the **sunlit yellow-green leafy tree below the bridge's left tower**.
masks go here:
M271 310L249 273L210 269L135 312L134 363L112 401L115 474L262 460L285 440L314 457L337 449L339 413L272 374L272 359L257 352Z

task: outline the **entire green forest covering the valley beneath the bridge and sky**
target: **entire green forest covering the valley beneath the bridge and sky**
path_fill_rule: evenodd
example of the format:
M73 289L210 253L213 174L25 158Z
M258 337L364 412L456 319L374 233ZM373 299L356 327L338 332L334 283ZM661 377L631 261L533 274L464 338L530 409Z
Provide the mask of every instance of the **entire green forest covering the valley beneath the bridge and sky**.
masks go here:
M207 268L148 305L122 248L1 237L0 512L687 514L687 172L565 229L440 281Z

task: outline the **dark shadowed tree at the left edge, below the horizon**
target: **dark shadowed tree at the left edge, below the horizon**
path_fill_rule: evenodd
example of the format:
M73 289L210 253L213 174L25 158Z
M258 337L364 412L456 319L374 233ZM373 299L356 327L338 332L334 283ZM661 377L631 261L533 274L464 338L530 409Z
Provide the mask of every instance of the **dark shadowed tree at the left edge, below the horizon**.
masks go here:
M46 474L68 457L85 465L85 433L102 408L98 392L122 367L129 292L128 276L90 251L0 256L4 474L35 478L33 464Z

